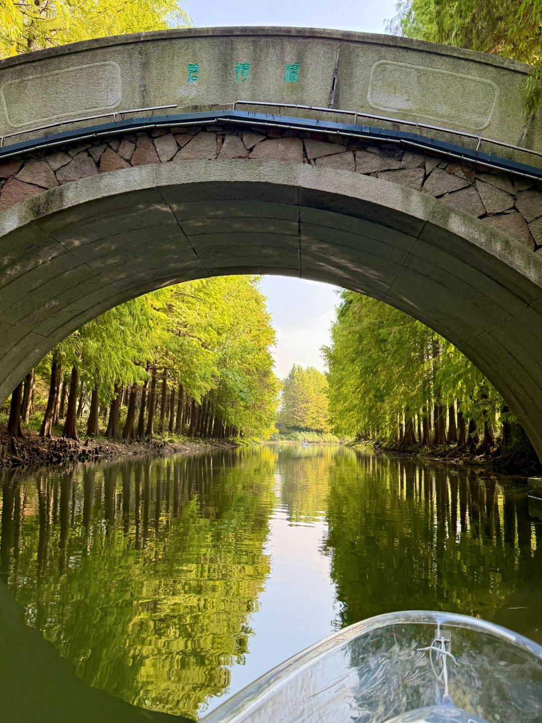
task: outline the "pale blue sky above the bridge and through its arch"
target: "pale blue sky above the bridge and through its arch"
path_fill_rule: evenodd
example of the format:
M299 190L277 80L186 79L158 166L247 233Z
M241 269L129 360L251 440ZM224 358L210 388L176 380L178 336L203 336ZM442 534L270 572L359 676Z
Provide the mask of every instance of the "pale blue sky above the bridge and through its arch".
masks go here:
M387 20L395 15L395 5L396 0L181 2L195 27L290 25L364 33L385 33ZM339 301L336 287L284 276L264 276L261 288L277 332L276 374L285 377L294 363L324 371L320 349L330 341L330 326Z

